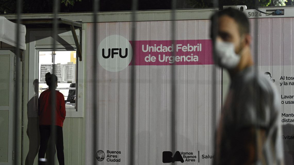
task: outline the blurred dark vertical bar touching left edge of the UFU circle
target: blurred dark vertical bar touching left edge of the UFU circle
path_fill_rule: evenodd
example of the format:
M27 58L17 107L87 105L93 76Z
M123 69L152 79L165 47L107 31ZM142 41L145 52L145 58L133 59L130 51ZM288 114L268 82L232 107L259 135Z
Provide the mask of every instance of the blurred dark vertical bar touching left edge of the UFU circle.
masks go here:
M96 100L97 102L99 102L99 98L97 98L97 95L99 96L99 88L97 90L97 74L99 74L99 70L97 68L97 22L98 22L98 13L99 10L99 0L94 0L93 1L93 22L94 22L94 35L93 35L93 70L92 70L92 75L93 75L93 79L92 79L92 85L93 85L93 91L92 91L92 98L93 98L93 116L92 116L92 122L93 122L93 154L96 154L96 152L98 151L98 124L99 124L99 118L98 118L98 109L99 109L99 104L96 104ZM98 106L98 107L97 107ZM93 164L97 164L97 160L96 160L96 156L93 156Z

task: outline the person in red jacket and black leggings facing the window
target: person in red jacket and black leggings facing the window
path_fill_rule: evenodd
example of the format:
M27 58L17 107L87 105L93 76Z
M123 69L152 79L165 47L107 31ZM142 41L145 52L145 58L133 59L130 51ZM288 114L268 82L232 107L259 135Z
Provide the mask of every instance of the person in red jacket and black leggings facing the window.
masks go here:
M40 129L40 148L39 148L39 164L44 160L45 152L47 150L48 140L51 133L51 110L52 110L52 93L55 93L55 126L56 126L56 150L59 165L64 165L64 151L63 151L63 132L62 126L65 119L65 101L61 92L56 91L57 77L50 72L45 75L46 84L49 89L40 94L38 104L39 114L39 129Z

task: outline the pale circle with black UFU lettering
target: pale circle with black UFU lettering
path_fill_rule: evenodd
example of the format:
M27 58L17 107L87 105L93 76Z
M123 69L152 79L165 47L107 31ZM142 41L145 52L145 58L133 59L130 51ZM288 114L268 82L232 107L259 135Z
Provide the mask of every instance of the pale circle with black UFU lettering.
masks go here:
M125 69L130 64L132 57L131 43L123 36L108 36L98 46L98 61L104 69L110 72Z

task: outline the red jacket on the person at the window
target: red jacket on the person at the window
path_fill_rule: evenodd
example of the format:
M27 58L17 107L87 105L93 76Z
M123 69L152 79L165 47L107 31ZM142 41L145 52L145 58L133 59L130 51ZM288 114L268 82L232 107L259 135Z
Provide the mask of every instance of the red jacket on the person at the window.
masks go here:
M63 126L65 119L65 101L62 93L56 93L55 125ZM51 125L51 90L47 89L41 93L38 104L39 124Z

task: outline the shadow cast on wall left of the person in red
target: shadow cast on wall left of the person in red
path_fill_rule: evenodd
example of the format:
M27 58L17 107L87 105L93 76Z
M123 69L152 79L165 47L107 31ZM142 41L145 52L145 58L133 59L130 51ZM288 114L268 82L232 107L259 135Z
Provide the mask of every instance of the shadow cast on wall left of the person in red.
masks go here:
M33 85L35 95L29 100L27 104L28 125L26 129L26 134L29 137L29 152L26 155L25 165L34 164L34 160L38 154L40 146L40 131L38 117L39 80L35 79Z

